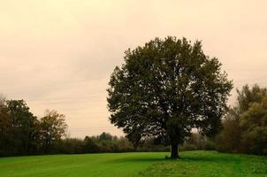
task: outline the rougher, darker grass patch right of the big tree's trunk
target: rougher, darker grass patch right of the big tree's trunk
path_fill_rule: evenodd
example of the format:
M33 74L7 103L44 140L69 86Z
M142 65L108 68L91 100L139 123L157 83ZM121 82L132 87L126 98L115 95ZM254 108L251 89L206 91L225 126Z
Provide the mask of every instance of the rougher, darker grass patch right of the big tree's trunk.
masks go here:
M151 165L141 174L141 176L267 177L267 157L190 151L182 153L182 158L179 160Z

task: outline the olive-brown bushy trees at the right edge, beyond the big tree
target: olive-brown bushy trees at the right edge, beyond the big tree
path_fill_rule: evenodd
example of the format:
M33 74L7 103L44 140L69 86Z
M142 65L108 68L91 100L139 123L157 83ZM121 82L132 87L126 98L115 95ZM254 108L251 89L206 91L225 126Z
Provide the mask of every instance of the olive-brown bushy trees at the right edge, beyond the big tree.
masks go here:
M223 129L217 135L217 150L263 154L266 149L264 100L267 89L245 85L237 94L237 103L228 110Z

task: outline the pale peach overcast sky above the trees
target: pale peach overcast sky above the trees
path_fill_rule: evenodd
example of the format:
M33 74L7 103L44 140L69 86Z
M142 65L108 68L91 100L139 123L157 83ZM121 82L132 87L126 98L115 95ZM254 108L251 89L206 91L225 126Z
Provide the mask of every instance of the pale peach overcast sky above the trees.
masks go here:
M110 132L108 81L124 51L168 35L201 40L234 89L267 85L265 0L0 0L0 93L35 115L65 114L69 135Z

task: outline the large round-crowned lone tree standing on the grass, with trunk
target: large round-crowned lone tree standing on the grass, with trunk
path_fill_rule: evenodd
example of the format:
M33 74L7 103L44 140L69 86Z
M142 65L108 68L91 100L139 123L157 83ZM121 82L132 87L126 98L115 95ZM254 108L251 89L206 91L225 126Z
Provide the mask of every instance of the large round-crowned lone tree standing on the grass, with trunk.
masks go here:
M171 158L179 158L178 146L192 128L217 133L233 88L201 42L176 37L126 50L125 64L114 69L109 86L111 123L135 142L136 137L167 136Z

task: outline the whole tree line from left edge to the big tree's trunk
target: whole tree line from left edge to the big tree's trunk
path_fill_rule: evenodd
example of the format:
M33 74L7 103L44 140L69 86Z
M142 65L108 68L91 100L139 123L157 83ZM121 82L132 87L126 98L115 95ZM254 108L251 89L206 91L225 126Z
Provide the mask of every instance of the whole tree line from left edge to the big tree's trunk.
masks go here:
M0 157L39 154L80 154L128 151L164 151L165 145L149 138L134 148L124 136L103 132L84 139L67 135L65 115L45 111L41 118L34 116L24 100L0 98Z

